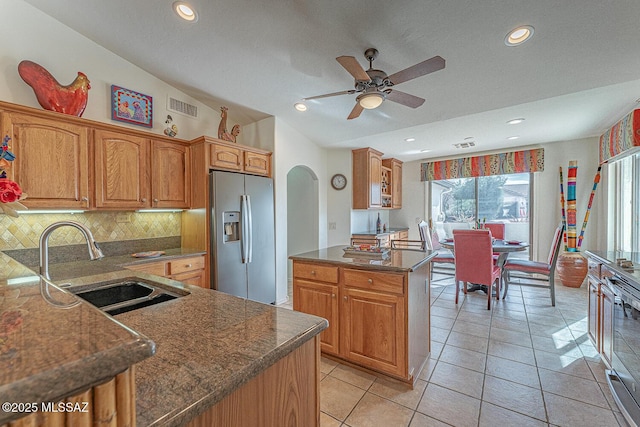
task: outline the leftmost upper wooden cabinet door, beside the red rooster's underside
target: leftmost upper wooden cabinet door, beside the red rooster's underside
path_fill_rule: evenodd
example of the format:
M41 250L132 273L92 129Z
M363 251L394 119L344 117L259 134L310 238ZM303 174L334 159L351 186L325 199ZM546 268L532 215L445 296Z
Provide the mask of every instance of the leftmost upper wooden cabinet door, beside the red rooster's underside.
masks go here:
M20 113L2 114L2 132L16 158L11 176L30 208L89 207L87 128ZM9 169L7 168L7 169Z

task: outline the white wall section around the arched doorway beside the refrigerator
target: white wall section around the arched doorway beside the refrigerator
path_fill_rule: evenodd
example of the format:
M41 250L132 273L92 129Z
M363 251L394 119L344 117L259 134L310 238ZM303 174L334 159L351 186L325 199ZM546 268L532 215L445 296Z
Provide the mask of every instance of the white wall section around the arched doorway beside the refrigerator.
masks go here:
M327 247L327 150L282 120L275 120L274 180L276 206L276 301L287 299L287 174L306 166L318 177L318 247Z

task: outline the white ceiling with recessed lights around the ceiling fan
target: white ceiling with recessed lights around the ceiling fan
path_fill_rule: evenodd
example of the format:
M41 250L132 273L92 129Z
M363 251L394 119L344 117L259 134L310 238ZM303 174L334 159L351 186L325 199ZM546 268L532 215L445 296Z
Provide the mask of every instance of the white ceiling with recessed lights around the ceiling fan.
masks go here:
M243 124L276 116L319 145L405 161L599 136L640 98L638 0L188 1L195 24L176 17L173 0L26 0L212 108L237 109ZM505 46L523 24L534 37ZM369 47L388 74L446 60L398 85L422 107L385 101L349 121L356 95L293 108L352 89L335 58L366 69ZM506 124L516 117L526 121ZM468 137L474 148L453 148Z

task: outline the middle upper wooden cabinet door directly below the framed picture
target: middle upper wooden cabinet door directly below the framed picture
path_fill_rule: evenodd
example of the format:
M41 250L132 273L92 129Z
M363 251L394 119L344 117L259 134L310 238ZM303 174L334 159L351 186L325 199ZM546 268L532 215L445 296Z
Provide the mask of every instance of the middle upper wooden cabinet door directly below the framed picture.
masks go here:
M96 207L151 207L149 140L95 131Z

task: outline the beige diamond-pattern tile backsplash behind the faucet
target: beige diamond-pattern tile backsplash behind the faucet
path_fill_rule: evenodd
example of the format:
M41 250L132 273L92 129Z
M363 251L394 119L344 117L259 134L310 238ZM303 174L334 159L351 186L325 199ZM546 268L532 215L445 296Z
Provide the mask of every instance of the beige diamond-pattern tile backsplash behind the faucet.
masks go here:
M180 236L180 212L85 212L20 215L0 214L0 251L37 248L42 231L56 221L76 221L86 225L96 241L149 239ZM73 227L55 230L50 246L85 243Z

